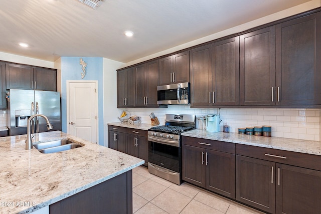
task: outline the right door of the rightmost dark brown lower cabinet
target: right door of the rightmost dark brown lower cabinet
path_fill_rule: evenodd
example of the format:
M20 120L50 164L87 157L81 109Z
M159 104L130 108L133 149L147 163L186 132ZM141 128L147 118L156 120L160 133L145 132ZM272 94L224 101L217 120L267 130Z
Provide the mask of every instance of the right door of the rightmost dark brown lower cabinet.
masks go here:
M276 164L276 213L320 213L321 171Z

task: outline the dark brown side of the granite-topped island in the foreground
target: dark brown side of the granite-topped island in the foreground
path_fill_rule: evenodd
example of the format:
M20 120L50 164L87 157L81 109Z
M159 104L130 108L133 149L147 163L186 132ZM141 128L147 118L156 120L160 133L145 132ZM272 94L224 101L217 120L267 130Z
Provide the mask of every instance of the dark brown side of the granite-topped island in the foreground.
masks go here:
M132 213L132 171L49 205L51 214Z

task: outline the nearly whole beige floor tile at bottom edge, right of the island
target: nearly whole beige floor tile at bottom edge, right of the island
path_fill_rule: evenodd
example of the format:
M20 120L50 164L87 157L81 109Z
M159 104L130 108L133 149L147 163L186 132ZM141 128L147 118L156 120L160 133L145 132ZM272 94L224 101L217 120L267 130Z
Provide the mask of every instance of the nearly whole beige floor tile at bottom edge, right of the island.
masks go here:
M166 189L150 202L170 214L180 213L192 198L173 189Z

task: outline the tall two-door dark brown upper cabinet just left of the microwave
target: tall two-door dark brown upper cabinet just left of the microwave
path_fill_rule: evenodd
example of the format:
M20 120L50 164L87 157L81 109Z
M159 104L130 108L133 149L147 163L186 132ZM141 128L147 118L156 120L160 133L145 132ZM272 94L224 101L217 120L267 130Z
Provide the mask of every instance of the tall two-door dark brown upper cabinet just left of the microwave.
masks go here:
M136 107L158 107L158 60L135 67L136 75Z

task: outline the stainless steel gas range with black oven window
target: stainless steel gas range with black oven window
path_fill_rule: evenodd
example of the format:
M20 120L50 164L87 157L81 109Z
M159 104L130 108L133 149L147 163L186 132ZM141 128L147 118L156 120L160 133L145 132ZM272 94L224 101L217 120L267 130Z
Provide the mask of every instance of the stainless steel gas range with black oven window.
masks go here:
M148 129L148 171L181 184L181 133L196 128L196 116L166 114L165 125Z

